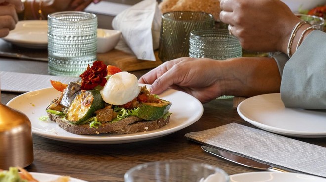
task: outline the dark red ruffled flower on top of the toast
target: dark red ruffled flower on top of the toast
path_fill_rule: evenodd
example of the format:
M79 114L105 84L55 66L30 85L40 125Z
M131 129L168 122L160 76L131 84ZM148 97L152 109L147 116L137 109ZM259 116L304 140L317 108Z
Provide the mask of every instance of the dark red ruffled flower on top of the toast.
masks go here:
M92 90L98 85L103 87L106 83L105 76L108 73L106 67L103 61L95 61L92 67L88 65L86 71L79 75L82 78L81 89Z

